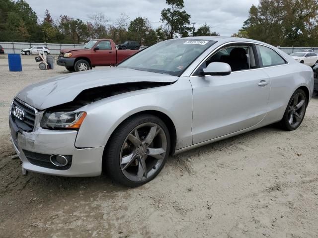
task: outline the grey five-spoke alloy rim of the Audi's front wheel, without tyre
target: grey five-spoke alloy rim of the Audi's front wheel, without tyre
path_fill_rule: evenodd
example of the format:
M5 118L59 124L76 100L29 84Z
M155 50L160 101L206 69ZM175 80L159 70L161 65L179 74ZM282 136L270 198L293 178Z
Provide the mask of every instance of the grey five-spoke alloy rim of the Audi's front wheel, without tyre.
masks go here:
M143 181L159 170L167 150L163 129L153 122L136 126L126 137L120 152L120 167L132 181Z

